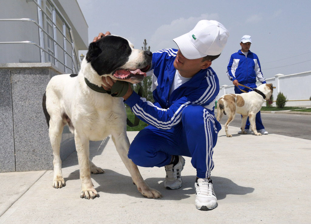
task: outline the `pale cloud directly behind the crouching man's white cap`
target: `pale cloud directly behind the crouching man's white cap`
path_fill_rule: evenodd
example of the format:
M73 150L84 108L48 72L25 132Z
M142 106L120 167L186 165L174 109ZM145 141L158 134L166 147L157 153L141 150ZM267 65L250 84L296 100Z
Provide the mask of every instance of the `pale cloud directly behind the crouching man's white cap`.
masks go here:
M173 20L170 24L161 25L151 36L151 51L155 52L164 48L177 48L177 45L173 41L174 38L188 33L200 20L218 20L218 17L217 13L202 14L198 17L189 17L188 19L179 18Z

